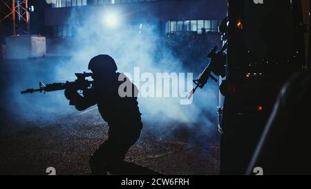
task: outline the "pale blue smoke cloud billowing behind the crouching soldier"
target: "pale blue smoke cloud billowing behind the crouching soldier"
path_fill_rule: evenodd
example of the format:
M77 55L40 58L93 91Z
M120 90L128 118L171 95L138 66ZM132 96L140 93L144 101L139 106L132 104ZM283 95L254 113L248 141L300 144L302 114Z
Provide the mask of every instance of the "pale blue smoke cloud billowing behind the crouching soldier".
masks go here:
M68 57L27 60L32 65L21 64L22 68L10 66L11 70L14 67L15 71L19 71L18 75L10 75L8 78L12 85L4 94L5 99L9 100L6 111L23 120L48 120L66 114L77 114L74 107L68 105L63 91L45 95L21 95L19 92L37 87L39 81L75 80L74 73L87 71L89 60L99 54L111 55L117 63L118 71L131 75L134 74L134 67L139 67L140 73L194 73L196 77L206 66L205 53L211 46L208 42L205 43L207 46L202 46L189 40L188 48L199 55L191 57L191 62L187 62L185 60L189 60L189 52L185 52L185 46L180 46L180 50L176 51L176 48L167 45L173 44L173 39L164 36L156 23L125 24L121 21L119 26L109 27L104 15L90 13L87 19L78 21L75 14L73 12L68 20L68 24L75 23L74 37L64 39L62 44L48 49L49 52ZM165 127L180 123L182 128L194 129L200 125L207 134L213 133L217 127L217 87L218 84L209 81L204 89L198 89L194 94L191 105L180 105L179 97L139 97L142 120L144 123L162 123L167 125Z

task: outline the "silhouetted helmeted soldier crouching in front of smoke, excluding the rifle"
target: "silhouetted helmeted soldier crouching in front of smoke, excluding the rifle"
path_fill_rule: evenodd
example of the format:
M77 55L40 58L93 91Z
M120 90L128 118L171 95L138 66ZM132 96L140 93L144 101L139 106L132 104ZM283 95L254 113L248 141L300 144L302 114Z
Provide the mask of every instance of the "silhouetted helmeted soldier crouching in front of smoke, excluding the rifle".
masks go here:
M124 161L131 145L138 141L142 129L138 89L123 73L116 72L117 65L109 55L93 57L88 69L93 73L91 89L84 90L83 96L73 89L66 89L65 96L70 100L70 105L75 105L79 111L97 105L100 115L109 124L108 139L89 161L92 174L106 174L106 171L111 174L156 174ZM126 82L127 87L120 87ZM124 93L132 95L124 96Z

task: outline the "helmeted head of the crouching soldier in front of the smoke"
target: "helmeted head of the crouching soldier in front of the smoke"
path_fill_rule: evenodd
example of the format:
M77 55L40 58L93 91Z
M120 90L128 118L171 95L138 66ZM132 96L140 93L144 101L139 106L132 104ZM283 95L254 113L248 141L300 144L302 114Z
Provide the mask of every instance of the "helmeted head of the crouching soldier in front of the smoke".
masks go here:
M88 69L93 72L92 78L97 80L115 75L117 64L109 55L97 55L88 63Z

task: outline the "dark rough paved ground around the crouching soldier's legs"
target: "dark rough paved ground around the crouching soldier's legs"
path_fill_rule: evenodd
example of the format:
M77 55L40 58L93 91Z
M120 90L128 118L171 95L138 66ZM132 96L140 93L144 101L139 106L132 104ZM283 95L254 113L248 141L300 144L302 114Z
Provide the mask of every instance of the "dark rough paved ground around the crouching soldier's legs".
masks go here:
M50 166L57 174L89 174L88 157L106 139L108 129L97 109L37 123L6 122L17 123L26 126L0 138L0 174L46 174ZM189 140L186 129L171 137L167 128L178 127L145 124L126 160L162 174L218 174L218 142Z

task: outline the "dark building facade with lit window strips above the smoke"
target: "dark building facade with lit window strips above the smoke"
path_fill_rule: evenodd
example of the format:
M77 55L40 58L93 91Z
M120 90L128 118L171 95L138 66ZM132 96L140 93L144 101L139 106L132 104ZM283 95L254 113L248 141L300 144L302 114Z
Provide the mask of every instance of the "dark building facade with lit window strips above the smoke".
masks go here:
M216 0L56 0L45 14L48 37L73 37L68 19L83 21L88 12L121 12L123 24L157 23L163 34L191 32L198 35L217 33L227 14L227 1ZM124 16L125 15L125 16Z

